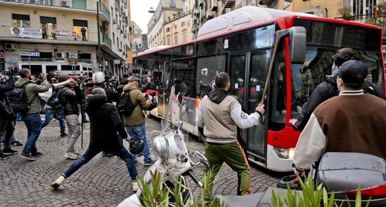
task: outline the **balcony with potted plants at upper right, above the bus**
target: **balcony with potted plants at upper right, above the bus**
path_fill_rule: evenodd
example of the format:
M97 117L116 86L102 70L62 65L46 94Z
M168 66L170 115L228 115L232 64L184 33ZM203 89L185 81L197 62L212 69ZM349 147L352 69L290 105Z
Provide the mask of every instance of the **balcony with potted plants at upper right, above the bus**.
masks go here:
M351 17L337 17L338 20L347 20L356 23L364 23L369 25L374 25L386 30L386 12L380 14L364 14L364 15L355 15ZM386 38L386 33L383 32L383 39Z

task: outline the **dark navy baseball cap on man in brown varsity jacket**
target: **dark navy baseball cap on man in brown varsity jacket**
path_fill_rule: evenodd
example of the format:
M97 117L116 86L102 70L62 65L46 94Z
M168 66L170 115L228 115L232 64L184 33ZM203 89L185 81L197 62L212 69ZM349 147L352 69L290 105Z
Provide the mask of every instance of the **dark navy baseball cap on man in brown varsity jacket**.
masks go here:
M367 68L360 61L349 60L340 66L338 76L344 83L362 85L367 76Z

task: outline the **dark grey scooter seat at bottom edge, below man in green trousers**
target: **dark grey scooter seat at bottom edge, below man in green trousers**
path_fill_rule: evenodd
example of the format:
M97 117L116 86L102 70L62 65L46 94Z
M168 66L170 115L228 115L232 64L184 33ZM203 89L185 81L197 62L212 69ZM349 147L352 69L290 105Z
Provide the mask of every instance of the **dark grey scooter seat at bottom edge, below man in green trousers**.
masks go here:
M264 192L259 192L250 195L215 195L214 198L221 200L226 207L246 207L256 206L263 195Z

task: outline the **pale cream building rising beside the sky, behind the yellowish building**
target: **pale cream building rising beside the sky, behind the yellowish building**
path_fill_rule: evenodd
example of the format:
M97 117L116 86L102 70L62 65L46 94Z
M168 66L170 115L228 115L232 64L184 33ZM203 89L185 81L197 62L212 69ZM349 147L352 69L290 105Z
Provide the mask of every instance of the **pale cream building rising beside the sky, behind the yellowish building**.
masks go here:
M164 22L178 13L182 13L182 0L160 0L149 23L147 24L147 43L149 48L166 45Z

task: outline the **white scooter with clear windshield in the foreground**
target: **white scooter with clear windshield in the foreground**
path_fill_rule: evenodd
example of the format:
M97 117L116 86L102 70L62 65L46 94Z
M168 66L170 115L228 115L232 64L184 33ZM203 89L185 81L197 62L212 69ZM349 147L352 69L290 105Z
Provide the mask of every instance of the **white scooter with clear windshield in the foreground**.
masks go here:
M162 181L169 188L173 188L176 182L180 180L181 184L186 186L184 176L190 176L190 178L197 184L198 187L202 187L201 181L196 177L193 172L194 166L203 163L210 166L208 159L196 151L193 154L199 160L194 162L186 147L188 138L188 132L182 130L183 122L187 122L187 114L185 112L185 103L183 102L182 95L178 93L175 95L174 86L171 88L168 102L168 109L166 118L161 120L161 133L153 139L153 155L157 157L157 161L149 167L146 171L143 179L147 182L151 182L151 174L158 171L162 175ZM174 115L178 114L178 117ZM176 124L178 123L178 124ZM185 142L186 137L186 142ZM191 197L191 191L187 189L181 189L183 200ZM140 201L142 191L140 188L136 194L123 200L119 203L118 207L131 207L131 206L144 206ZM173 201L173 197L170 196L169 201Z

